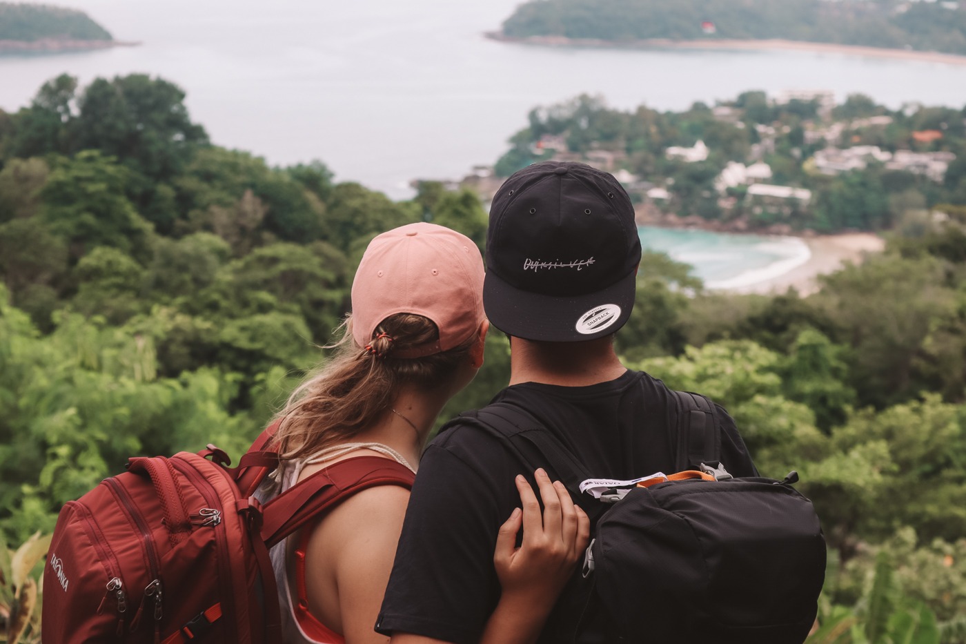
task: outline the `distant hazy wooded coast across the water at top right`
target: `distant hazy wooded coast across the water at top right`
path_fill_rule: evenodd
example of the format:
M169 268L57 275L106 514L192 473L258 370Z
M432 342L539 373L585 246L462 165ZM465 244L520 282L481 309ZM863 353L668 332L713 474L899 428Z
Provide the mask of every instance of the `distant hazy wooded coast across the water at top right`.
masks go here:
M531 0L498 39L660 45L789 41L966 55L958 0Z

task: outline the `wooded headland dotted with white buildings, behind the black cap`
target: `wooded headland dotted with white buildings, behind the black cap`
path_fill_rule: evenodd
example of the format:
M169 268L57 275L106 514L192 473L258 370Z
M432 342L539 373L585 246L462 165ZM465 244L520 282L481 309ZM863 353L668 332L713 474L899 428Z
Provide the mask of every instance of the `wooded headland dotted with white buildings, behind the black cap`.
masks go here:
M682 112L581 96L534 108L493 168L584 161L614 173L640 223L770 233L881 231L966 204L966 109L866 96L744 92ZM949 210L949 208L946 208Z

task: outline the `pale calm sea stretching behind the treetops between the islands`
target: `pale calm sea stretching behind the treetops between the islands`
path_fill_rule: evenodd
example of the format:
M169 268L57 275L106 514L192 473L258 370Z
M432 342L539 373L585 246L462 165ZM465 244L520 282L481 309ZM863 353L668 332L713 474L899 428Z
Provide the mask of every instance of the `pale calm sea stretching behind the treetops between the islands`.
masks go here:
M47 0L44 0L46 2ZM501 44L517 0L57 0L137 47L0 57L0 107L27 104L59 73L151 73L181 85L213 141L273 164L320 159L337 180L393 198L413 178L459 178L492 163L536 105L599 95L611 106L683 109L748 89L829 89L898 107L966 104L966 67L783 51L628 51ZM674 233L676 234L676 233ZM714 280L797 256L787 246L730 253L712 242L675 255ZM744 244L745 242L740 242ZM764 247L761 247L761 245ZM794 245L794 243L789 243ZM764 264L750 266L750 256ZM744 263L743 263L744 262ZM705 268L708 267L708 268ZM713 267L713 268L712 268Z

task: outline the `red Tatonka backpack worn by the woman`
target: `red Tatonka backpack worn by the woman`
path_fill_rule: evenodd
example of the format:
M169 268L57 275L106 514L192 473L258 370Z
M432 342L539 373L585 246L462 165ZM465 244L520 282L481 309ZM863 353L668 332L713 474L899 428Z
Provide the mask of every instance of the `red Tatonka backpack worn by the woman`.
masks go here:
M274 428L236 468L212 445L131 458L64 506L43 571L43 641L280 642L269 548L355 492L410 487L413 475L358 456L261 505L251 495L278 464Z

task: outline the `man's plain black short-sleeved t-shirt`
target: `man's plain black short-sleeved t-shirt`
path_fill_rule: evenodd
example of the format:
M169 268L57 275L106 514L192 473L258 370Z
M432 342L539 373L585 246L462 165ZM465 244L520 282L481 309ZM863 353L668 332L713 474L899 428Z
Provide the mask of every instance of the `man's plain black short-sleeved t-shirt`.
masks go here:
M496 401L526 409L594 478L674 471L668 428L677 426L676 401L646 373L627 371L588 387L513 385ZM725 467L736 477L755 475L734 421L721 407L718 412ZM518 474L533 480L532 467L508 441L471 424L450 427L430 444L419 462L377 630L458 644L479 639L499 599L493 553L497 528L520 506ZM585 508L599 503L589 496L577 501Z

